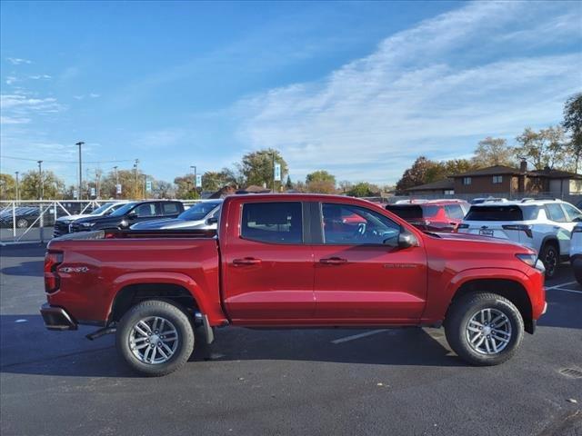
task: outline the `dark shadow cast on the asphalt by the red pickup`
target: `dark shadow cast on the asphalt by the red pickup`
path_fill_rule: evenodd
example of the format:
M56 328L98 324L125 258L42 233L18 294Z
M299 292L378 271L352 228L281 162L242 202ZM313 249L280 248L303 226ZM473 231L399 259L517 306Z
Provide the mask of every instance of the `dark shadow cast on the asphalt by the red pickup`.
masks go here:
M25 320L25 321L22 321ZM136 377L117 356L114 335L95 342L85 334L49 332L40 315L0 317L0 372L66 377ZM406 366L465 366L441 344L442 331L386 330L354 341L332 343L366 330L248 330L216 332L206 345L196 331L196 350L187 366L206 361L305 361ZM446 342L445 342L446 343Z

